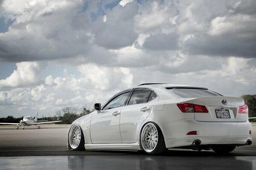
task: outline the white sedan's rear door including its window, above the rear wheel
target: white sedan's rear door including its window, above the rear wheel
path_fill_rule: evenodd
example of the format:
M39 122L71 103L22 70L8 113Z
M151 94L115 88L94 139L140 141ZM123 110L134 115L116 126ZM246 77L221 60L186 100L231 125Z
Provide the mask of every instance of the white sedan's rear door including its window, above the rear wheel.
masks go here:
M121 111L120 133L123 143L137 142L140 126L151 112L155 98L157 94L154 91L134 89L128 105Z

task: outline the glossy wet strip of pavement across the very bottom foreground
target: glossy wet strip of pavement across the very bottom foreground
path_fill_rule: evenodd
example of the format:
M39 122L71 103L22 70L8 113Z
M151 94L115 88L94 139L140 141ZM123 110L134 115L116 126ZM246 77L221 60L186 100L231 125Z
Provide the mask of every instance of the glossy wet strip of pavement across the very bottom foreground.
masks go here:
M1 157L0 170L255 170L253 156L87 155Z

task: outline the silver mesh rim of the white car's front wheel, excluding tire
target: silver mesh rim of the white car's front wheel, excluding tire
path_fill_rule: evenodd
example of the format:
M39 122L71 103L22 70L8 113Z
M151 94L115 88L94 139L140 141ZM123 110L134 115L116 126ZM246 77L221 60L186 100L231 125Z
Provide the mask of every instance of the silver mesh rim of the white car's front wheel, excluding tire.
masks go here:
M81 142L81 136L82 132L79 125L73 125L70 128L69 132L69 144L72 149L76 149L79 147L79 144Z

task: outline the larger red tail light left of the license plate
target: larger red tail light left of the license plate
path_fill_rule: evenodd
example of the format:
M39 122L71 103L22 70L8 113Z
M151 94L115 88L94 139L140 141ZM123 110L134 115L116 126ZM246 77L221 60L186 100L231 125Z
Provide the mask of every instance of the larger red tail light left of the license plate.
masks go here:
M177 106L183 113L208 113L207 108L201 105L194 105L190 103L177 103Z

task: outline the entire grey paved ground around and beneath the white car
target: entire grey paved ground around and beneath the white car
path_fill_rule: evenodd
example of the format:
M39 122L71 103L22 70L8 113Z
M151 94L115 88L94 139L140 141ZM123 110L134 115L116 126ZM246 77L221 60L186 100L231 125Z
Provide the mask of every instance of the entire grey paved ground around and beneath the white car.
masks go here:
M209 151L168 150L157 156L137 151L67 150L70 125L42 125L16 130L0 126L0 170L6 169L181 169L255 170L256 126L250 146L224 155ZM27 163L25 163L27 162ZM36 168L35 168L36 167Z

